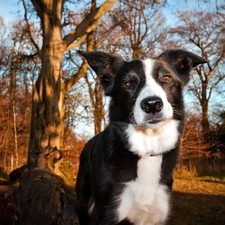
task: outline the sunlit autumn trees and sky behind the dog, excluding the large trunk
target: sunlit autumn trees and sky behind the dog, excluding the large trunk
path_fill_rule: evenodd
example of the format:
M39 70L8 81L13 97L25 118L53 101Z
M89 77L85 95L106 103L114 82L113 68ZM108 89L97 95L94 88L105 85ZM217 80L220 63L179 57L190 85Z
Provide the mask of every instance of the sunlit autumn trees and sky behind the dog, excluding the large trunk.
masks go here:
M62 85L67 86L61 115L61 150L76 156L88 138L107 125L108 100L96 75L82 64L78 49L102 50L131 60L182 48L208 63L194 71L185 90L187 116L180 161L188 162L186 166L193 169L200 159L214 163L224 158L224 5L222 1L159 3L117 2L94 32L66 49L61 76ZM43 33L32 7L29 1L18 1L10 9L13 15L9 13L0 20L0 166L7 173L26 164L32 90L42 67L39 53ZM74 29L89 10L88 1L68 1L63 8L62 35Z

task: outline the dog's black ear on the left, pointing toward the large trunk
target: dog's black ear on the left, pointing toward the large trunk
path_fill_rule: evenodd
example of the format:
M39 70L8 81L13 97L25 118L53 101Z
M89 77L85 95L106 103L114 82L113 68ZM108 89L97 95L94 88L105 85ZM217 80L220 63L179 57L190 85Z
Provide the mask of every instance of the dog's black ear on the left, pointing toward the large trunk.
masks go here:
M122 57L101 51L78 51L78 53L87 59L88 64L99 77L105 95L110 95L116 72L124 62Z

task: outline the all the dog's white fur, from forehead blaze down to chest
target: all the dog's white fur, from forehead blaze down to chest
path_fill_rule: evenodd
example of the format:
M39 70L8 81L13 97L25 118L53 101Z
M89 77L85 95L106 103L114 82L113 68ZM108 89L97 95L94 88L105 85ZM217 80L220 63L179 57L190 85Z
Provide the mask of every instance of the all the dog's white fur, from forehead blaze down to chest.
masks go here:
M161 154L175 147L179 136L179 122L172 119L173 110L167 101L166 93L152 77L154 60L147 59L143 63L146 85L134 106L134 119L137 126L130 124L126 131L130 151L140 156L137 178L126 184L122 195L117 200L120 203L117 214L118 221L128 218L137 225L155 225L165 221L169 213L168 190L159 182ZM164 120L157 124L150 124L146 128L147 121L140 103L149 96L162 99Z

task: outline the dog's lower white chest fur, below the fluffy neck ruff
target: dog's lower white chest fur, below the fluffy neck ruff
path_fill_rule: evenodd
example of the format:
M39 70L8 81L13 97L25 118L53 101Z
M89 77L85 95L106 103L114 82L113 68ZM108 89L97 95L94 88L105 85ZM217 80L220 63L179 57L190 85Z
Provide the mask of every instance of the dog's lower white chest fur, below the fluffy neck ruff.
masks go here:
M128 218L137 225L163 222L169 210L166 187L159 183L162 156L142 157L137 178L128 182L120 196L119 221Z

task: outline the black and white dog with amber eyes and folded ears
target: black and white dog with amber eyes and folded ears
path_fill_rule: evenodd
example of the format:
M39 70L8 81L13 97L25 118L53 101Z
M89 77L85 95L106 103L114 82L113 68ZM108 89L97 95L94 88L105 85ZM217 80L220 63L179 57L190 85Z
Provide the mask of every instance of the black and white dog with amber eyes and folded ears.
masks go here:
M111 97L109 126L80 156L80 225L164 224L184 125L182 89L192 67L206 61L179 49L131 62L98 51L79 54Z

